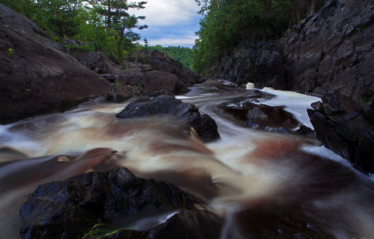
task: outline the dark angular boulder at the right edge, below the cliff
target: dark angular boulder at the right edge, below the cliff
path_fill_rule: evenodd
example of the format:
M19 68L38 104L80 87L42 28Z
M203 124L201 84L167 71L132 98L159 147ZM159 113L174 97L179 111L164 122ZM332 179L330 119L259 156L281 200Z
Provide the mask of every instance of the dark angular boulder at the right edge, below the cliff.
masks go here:
M322 103L308 109L317 139L327 148L348 159L355 168L374 172L374 112L364 109L352 99L330 92Z

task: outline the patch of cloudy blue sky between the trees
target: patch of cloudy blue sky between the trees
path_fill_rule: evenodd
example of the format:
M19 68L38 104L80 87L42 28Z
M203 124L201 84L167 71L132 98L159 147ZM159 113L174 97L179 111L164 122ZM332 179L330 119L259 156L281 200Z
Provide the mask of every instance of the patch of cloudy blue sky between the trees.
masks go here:
M195 44L195 32L199 30L199 6L195 0L145 0L145 8L132 10L145 16L139 24L147 24L145 30L136 30L141 39L146 37L150 46L187 46ZM143 40L140 42L144 44Z

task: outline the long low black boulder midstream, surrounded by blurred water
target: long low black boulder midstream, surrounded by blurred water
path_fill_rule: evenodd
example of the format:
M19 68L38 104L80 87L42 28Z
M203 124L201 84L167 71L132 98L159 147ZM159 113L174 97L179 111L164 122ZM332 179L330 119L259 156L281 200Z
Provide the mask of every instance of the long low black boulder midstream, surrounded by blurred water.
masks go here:
M175 117L177 120L194 127L200 138L205 141L220 139L217 124L207 114L201 115L195 105L183 103L173 96L141 97L125 107L118 118L134 118L145 116Z

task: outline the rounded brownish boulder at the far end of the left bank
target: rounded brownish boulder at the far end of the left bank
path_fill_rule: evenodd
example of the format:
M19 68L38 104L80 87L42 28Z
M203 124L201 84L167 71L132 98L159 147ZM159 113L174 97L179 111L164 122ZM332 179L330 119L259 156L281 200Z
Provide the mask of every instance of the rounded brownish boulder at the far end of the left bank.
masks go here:
M170 93L175 91L178 77L165 71L148 71L144 73L141 84L146 91L164 89Z

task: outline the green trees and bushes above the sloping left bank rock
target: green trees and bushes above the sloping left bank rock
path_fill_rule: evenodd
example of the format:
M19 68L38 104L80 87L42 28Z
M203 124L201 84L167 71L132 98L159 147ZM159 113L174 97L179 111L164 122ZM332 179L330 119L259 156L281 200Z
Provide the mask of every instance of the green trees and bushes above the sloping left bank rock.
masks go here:
M103 51L123 62L124 56L132 51L141 39L133 28L139 19L130 15L131 8L145 8L145 1L138 3L127 0L0 0L0 3L24 14L57 41L64 38L78 39L87 44L69 46L84 51ZM89 3L89 4L87 4Z

